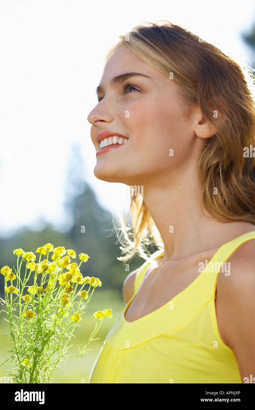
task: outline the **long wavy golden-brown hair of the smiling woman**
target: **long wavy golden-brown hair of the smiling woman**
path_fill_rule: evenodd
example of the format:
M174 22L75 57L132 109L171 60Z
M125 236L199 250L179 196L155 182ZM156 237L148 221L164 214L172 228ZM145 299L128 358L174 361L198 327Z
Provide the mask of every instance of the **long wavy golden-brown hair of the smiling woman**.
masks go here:
M168 21L160 25L145 22L119 38L106 60L122 48L167 77L173 73L185 110L197 104L217 129L207 139L198 162L205 209L223 221L255 224L255 158L244 158L244 147L255 146L253 74L214 45ZM147 260L148 245L164 247L142 196L131 193L126 220L118 219L120 227L114 229L126 254L119 260L126 262L135 253Z

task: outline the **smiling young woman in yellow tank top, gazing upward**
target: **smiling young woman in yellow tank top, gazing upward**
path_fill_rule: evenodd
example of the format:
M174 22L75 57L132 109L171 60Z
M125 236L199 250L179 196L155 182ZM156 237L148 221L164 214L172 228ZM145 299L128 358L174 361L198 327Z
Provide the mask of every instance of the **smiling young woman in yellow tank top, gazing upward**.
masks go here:
M94 173L142 190L122 260L146 260L90 383L255 382L253 93L248 71L169 22L108 54L88 116Z

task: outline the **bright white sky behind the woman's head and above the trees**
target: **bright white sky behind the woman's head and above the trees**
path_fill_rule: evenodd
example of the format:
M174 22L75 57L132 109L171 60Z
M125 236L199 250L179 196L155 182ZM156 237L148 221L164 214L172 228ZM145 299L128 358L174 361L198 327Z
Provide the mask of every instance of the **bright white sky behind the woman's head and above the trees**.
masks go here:
M40 230L42 220L62 231L70 227L63 201L72 144L80 147L81 179L99 203L128 210L126 186L94 175L87 117L118 36L160 20L185 27L242 64L255 61L241 39L255 23L250 0L0 0L0 237L21 226Z

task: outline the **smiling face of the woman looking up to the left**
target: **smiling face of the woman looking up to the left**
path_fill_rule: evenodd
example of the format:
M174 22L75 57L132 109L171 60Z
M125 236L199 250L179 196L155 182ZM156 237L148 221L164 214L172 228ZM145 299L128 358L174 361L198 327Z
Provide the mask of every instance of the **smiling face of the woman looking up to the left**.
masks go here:
M113 77L125 73L144 76L111 82ZM196 150L196 134L191 111L187 116L183 114L174 80L158 73L132 52L115 50L100 84L99 103L88 115L91 139L98 152L94 169L98 179L126 185L145 185L153 180L164 183L171 178L171 172L187 166ZM97 138L102 137L102 131L121 134L127 141L99 152ZM173 150L173 155L169 155L169 150Z

